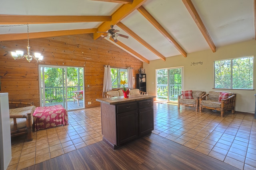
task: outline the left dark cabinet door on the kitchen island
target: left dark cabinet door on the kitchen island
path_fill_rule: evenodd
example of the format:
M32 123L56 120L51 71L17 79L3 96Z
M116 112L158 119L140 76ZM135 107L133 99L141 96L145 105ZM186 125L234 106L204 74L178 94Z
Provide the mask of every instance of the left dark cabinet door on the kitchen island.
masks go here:
M138 137L138 112L137 110L117 114L118 145Z

